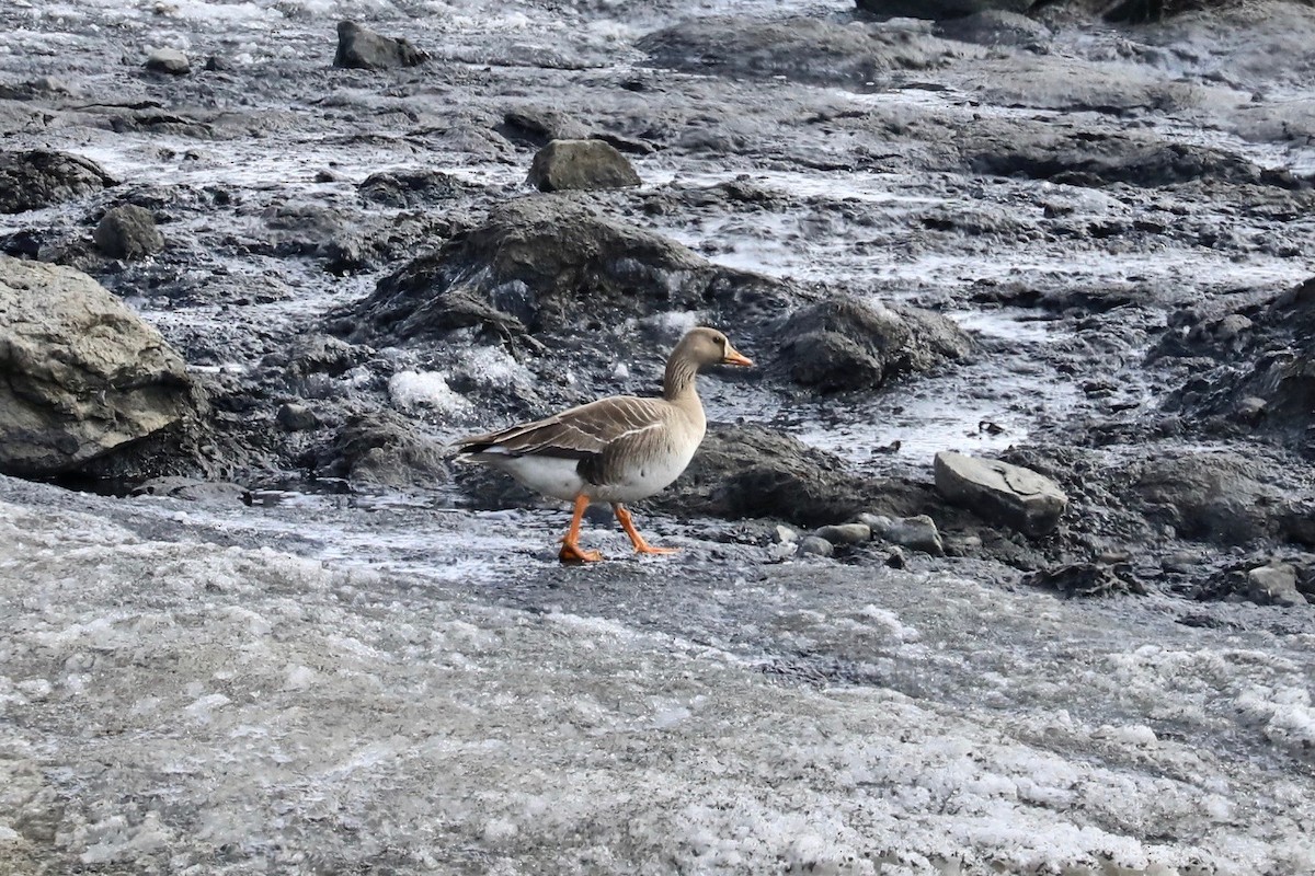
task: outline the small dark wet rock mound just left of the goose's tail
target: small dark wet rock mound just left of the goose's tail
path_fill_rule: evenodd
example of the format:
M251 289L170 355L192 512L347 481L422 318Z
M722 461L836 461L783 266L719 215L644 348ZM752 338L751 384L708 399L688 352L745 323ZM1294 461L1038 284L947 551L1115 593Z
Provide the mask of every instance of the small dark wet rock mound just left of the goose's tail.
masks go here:
M433 487L450 479L446 448L391 411L352 416L304 462L314 477L372 486Z

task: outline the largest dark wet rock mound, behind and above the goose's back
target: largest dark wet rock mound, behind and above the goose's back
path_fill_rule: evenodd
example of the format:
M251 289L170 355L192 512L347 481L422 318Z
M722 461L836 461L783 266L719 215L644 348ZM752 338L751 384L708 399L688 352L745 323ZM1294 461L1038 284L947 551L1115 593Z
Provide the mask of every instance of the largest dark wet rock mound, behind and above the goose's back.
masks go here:
M601 218L564 194L518 198L473 230L379 281L350 317L354 338L475 328L487 340L538 349L531 336L622 331L627 319L719 306L740 320L789 301L776 281L710 264L651 231Z

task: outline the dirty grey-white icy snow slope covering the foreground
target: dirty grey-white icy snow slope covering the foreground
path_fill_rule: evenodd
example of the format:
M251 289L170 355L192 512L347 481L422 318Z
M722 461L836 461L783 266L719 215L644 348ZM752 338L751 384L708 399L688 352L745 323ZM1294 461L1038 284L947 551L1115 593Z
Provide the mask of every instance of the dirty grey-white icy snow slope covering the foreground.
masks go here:
M1258 779L1141 721L781 686L617 620L416 583L0 503L0 852L18 872L1315 868L1302 771ZM1013 599L920 586L982 617ZM877 603L852 617L926 638ZM1231 696L1281 751L1310 726L1304 670L1262 651L1134 645L1098 668L1152 717L1227 720Z

